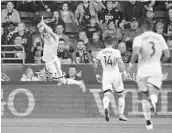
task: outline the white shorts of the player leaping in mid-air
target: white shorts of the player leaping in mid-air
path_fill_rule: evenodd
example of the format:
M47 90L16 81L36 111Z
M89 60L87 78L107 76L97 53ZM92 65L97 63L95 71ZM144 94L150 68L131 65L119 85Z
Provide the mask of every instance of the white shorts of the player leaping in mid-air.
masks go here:
M45 66L47 71L51 73L54 78L63 77L63 73L61 70L61 63L58 57L54 57L53 61L46 62Z

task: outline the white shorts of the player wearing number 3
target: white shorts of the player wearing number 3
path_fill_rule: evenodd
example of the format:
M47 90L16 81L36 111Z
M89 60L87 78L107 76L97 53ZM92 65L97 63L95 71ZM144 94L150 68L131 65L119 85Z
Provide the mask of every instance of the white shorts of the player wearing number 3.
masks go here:
M153 85L158 89L161 89L162 76L161 75L147 76L147 77L137 76L137 85L140 91L147 92L148 84Z

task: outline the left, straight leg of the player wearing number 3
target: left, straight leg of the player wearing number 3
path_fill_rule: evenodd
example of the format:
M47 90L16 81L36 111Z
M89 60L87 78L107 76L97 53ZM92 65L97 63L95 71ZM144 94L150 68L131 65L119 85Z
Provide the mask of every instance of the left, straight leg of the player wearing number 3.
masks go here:
M150 103L148 101L149 92L147 88L147 78L137 77L137 85L142 95L142 110L143 110L144 118L146 120L146 128L148 130L152 130L153 123L151 121Z

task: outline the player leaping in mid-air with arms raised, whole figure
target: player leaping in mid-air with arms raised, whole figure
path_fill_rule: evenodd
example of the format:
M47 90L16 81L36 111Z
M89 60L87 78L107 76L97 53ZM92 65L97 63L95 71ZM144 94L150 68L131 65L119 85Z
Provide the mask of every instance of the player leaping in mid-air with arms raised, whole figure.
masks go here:
M61 63L59 58L57 57L57 49L59 38L52 31L50 27L48 27L43 18L41 22L38 24L38 28L44 30L44 50L43 50L43 60L45 61L46 69L49 73L52 74L52 77L56 79L61 85L62 84L77 84L80 86L83 92L86 91L85 85L83 81L76 81L73 79L66 79L61 70Z

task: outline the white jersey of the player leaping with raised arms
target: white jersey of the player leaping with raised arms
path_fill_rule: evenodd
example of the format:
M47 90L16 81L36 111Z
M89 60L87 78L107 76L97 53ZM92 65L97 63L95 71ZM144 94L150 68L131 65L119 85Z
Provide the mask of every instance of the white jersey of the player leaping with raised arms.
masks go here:
M58 43L52 36L44 37L43 61L53 61L54 57L57 56Z

